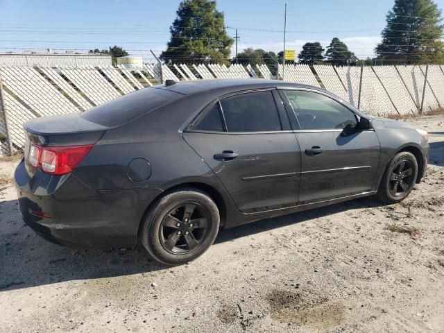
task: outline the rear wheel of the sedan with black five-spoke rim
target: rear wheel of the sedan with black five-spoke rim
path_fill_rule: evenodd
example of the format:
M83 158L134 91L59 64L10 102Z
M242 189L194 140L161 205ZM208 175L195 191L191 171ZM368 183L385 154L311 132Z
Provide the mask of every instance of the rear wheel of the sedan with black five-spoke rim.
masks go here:
M159 198L142 221L141 241L167 265L186 264L202 255L219 231L219 210L198 189L180 189Z

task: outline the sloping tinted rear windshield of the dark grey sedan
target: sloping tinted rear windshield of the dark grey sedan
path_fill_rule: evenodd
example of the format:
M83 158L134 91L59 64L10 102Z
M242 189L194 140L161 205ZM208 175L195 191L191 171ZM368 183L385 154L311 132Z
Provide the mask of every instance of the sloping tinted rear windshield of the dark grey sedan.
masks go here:
M166 89L145 88L96 106L83 112L81 117L103 126L119 126L183 96L183 94Z

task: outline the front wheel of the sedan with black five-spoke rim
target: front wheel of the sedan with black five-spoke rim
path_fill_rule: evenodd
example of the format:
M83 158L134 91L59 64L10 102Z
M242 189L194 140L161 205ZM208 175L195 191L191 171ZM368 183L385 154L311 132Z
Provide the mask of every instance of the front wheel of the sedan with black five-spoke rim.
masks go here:
M410 194L417 177L418 162L415 155L402 151L388 162L376 196L387 204L399 203Z

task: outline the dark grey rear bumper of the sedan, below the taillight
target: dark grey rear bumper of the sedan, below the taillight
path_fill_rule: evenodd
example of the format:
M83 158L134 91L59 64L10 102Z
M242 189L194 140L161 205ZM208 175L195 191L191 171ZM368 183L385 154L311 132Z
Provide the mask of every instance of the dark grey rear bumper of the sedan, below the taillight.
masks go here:
M73 174L31 178L24 161L15 170L19 211L27 225L53 243L74 248L117 248L137 244L149 203L160 189L94 190ZM45 214L46 217L40 216Z

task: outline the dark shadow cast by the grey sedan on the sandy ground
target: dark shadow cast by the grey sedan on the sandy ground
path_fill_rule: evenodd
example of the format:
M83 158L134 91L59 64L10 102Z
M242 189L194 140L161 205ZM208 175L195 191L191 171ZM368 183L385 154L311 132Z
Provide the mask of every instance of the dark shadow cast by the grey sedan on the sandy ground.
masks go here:
M380 205L361 198L307 212L280 216L222 229L216 244L247 237L273 228L316 219L321 216ZM9 212L0 220L0 292L72 280L112 278L168 269L150 259L142 246L126 250L72 250L40 238L22 222L17 200L0 204L0 212Z

